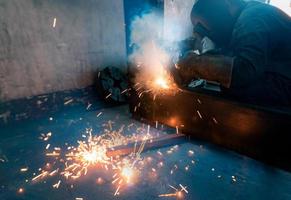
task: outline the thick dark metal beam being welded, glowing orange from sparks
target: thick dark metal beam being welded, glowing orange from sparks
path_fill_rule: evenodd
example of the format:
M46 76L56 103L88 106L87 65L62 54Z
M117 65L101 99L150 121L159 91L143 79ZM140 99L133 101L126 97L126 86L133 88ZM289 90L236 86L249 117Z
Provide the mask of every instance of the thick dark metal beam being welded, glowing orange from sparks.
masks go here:
M183 133L291 170L291 114L233 102L219 94L183 90L175 96L132 91L133 117L178 127Z

